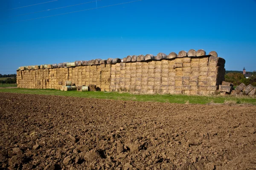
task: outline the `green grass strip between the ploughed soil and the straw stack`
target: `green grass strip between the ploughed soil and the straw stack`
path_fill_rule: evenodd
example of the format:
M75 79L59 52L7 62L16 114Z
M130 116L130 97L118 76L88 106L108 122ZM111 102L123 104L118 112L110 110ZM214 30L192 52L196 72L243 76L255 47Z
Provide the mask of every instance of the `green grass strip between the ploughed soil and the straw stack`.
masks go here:
M119 92L103 92L103 91L59 91L53 89L24 89L24 88L2 88L0 92L20 93L20 94L44 94L73 96L96 99L114 99L114 100L132 100L141 102L168 102L168 103L190 103L190 104L208 104L208 103L230 103L230 104L253 104L256 105L256 98L248 96L187 96L187 95L171 95L171 94L130 94Z

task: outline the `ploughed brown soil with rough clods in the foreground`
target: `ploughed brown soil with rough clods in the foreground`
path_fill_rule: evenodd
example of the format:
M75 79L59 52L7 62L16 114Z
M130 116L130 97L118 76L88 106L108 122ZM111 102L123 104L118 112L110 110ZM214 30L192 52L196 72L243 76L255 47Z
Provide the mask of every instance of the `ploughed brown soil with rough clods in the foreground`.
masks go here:
M256 168L255 106L0 94L0 169Z

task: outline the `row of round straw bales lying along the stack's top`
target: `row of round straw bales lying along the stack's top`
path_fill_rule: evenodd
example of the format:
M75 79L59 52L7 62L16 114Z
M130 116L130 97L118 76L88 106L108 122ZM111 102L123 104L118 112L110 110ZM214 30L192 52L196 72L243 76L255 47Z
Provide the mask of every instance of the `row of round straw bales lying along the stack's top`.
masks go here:
M208 55L218 57L218 54L215 51L210 51ZM46 69L46 68L61 68L61 67L75 67L80 65L99 65L99 64L115 64L119 62L136 62L136 61L148 61L148 60L161 60L161 59L175 59L182 57L201 57L206 56L206 52L203 49L195 51L193 49L186 51L180 51L178 54L171 52L169 55L164 53L158 53L157 56L153 54L147 55L134 55L127 56L123 59L119 58L108 58L108 59L92 59L90 61L75 61L75 62L62 62L59 64L44 64L44 65L30 65L19 67L18 70L36 70L36 69Z

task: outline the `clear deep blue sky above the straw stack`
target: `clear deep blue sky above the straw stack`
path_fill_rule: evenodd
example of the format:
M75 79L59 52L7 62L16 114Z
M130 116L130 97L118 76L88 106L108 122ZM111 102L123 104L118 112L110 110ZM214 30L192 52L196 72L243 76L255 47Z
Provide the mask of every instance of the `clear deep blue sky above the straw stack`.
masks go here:
M12 17L93 0L48 1L0 1L0 74L24 65L189 49L216 51L226 70L256 70L255 0L142 0L46 17L131 1L100 0ZM29 6L37 3L43 4ZM45 18L29 20L38 17Z

